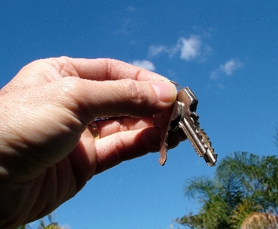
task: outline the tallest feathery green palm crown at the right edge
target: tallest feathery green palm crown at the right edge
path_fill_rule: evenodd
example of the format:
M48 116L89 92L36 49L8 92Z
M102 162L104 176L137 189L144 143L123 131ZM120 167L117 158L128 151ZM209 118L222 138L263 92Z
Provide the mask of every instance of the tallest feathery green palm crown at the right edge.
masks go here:
M216 176L224 180L234 176L236 193L244 200L260 205L264 210L277 214L278 207L278 159L242 152L234 153L220 162Z

